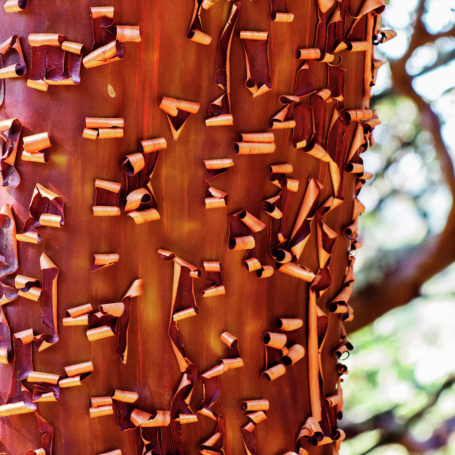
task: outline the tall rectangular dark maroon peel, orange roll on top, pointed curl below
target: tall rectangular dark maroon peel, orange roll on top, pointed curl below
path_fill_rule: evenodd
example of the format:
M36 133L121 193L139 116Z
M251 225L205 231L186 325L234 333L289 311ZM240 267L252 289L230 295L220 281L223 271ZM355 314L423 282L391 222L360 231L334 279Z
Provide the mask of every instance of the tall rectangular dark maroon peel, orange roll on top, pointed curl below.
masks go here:
M271 90L270 64L268 61L268 32L240 32L247 65L245 86L258 97Z

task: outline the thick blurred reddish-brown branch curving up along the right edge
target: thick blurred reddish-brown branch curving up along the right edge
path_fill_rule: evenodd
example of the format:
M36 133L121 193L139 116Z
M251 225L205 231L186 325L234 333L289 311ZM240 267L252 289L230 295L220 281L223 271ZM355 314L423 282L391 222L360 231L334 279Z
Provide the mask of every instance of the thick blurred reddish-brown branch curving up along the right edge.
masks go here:
M428 33L422 21L425 12L425 2L420 0L417 7L417 19L410 45L404 56L390 61L392 83L396 92L410 98L420 113L422 126L433 136L441 171L445 183L455 201L455 171L447 147L442 139L439 117L431 106L415 92L413 77L407 74L405 64L407 59L421 45L435 40L440 35ZM392 308L405 305L420 295L421 286L455 260L455 207L447 216L443 231L436 236L428 237L420 245L411 249L403 249L402 255L395 265L389 269L382 279L368 284L357 291L349 304L354 309L354 320L346 324L346 330L353 332L375 321ZM395 252L394 254L397 254Z

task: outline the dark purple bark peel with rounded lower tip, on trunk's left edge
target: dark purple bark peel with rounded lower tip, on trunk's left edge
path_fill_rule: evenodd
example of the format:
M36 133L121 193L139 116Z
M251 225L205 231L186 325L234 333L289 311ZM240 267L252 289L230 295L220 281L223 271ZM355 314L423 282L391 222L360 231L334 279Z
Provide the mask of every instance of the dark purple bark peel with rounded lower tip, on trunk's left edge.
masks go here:
M0 121L0 151L2 152L0 171L2 172L2 186L8 190L13 190L20 182L20 175L14 167L14 163L21 131L22 124L17 118Z

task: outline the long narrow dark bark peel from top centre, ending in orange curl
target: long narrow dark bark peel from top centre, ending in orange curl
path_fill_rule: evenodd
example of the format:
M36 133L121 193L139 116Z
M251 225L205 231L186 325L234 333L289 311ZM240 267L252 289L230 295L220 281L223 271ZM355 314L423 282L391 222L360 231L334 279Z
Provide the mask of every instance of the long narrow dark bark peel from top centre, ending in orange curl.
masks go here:
M204 2L202 6L204 7ZM237 17L240 13L240 6L240 2L234 3L228 22L226 22L218 41L218 50L216 52L215 60L217 68L215 72L215 83L224 90L224 93L209 104L207 108L208 118L205 120L207 126L234 124L234 119L231 114L231 72L229 57L232 35L236 26Z

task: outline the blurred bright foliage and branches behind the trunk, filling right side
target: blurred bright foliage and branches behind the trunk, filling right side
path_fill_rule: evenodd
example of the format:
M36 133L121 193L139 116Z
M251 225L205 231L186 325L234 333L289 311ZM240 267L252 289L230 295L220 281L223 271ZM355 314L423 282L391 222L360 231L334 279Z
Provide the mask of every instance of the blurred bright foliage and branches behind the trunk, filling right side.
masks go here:
M373 87L372 108L382 121L374 131L376 145L362 154L375 177L359 195L367 210L360 219L363 248L352 298L354 310L367 308L374 322L346 324L354 350L343 361L350 374L343 382L340 426L347 440L340 453L452 455L455 237L447 242L443 234L455 232L455 3L387 3L382 28L394 29L397 37L375 49L389 63ZM438 256L429 257L432 264L425 268L422 252L429 239L447 254L440 263ZM417 260L416 272L424 270L425 278L413 281L406 263ZM382 309L362 292L381 293L391 277L399 285L400 274L410 301L395 298L399 291L384 293L396 302ZM417 289L405 292L416 283Z

